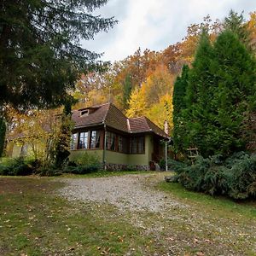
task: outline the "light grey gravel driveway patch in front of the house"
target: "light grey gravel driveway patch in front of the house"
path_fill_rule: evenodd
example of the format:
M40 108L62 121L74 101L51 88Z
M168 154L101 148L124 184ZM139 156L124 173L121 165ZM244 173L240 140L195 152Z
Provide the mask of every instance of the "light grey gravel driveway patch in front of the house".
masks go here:
M147 182L150 179L151 184ZM152 188L163 176L125 175L120 177L66 178L60 190L68 200L107 202L120 210L161 212L163 209L185 207L170 195Z

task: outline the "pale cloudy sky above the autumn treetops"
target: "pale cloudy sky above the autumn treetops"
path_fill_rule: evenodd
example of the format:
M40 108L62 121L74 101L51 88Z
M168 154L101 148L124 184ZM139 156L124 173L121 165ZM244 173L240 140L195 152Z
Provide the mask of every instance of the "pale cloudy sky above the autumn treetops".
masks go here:
M256 11L256 0L109 0L97 9L102 17L114 16L119 23L83 47L104 52L103 61L119 61L141 49L162 50L181 41L191 23L200 23L210 15L223 20L230 9L245 18Z

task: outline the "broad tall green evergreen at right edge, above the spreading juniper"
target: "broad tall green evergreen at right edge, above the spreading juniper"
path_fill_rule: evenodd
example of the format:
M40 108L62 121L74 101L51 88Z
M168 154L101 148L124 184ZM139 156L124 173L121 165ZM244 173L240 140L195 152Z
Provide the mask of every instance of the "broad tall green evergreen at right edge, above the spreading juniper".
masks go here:
M256 69L253 55L233 32L222 32L214 44L218 113L212 132L215 153L241 150L247 143L241 133L247 115L255 111Z

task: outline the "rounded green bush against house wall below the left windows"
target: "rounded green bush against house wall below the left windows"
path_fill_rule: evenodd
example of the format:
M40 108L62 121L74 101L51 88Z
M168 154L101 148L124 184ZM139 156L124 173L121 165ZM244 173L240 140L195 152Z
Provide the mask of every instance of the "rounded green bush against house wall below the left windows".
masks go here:
M86 174L101 170L102 165L95 154L80 152L73 155L71 161L64 168L64 172L73 174Z

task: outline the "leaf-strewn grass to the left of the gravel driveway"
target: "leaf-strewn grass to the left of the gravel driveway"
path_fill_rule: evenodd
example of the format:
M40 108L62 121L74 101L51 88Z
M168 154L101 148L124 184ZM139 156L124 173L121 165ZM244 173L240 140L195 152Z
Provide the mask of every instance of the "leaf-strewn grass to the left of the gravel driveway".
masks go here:
M0 178L0 255L144 255L150 237L109 205L69 202L49 178Z

